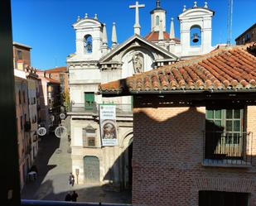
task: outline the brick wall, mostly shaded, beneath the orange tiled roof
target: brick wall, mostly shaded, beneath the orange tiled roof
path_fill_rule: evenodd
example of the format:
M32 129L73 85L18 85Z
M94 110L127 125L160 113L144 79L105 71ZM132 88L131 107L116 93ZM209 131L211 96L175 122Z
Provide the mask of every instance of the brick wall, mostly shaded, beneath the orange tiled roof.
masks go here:
M250 193L256 205L256 139L251 168L203 166L205 107L152 107L134 99L133 205L195 206L200 190ZM256 107L248 131L256 137Z

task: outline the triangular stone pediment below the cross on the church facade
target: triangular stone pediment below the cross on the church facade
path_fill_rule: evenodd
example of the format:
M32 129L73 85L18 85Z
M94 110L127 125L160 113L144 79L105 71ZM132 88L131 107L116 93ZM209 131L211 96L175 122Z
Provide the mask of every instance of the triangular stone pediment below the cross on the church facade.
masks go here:
M163 49L161 46L147 41L142 38L142 36L134 35L130 37L127 41L124 41L122 44L117 46L114 50L111 50L109 54L104 55L100 60L100 64L109 63L109 62L120 62L123 58L123 55L128 53L130 50L147 50L147 53L150 53L153 61L157 60L177 60L176 55L171 54L168 50Z

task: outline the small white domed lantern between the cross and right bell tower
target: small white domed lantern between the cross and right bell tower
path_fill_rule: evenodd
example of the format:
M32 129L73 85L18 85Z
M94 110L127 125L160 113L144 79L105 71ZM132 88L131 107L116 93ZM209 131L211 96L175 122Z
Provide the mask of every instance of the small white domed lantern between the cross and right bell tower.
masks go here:
M167 11L160 7L160 0L156 2L157 6L150 12L151 14L151 31L160 31L160 22L162 21L162 30L166 31L166 14Z

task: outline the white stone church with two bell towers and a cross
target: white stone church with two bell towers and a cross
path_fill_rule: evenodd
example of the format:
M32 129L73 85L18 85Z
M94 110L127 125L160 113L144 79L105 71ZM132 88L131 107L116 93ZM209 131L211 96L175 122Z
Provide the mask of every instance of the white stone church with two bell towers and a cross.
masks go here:
M170 32L167 32L167 11L159 0L150 12L151 30L147 36L141 36L139 8L145 5L136 2L130 6L135 9L134 35L118 44L113 23L110 48L106 25L99 21L97 15L77 17L73 24L76 50L75 54L67 57L67 68L72 172L78 175L79 184L130 188L133 174L133 98L103 98L98 94L98 86L213 50L211 22L214 12L206 2L202 7L196 2L192 6L184 6L178 16L181 26L179 39L175 36L173 18ZM102 144L101 105L115 105L117 141L111 146Z

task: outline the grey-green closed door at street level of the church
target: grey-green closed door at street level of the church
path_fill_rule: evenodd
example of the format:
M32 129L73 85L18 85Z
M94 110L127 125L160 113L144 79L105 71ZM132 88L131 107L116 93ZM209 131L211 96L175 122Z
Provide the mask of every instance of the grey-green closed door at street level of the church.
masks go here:
M99 159L96 156L84 157L85 183L99 182Z

